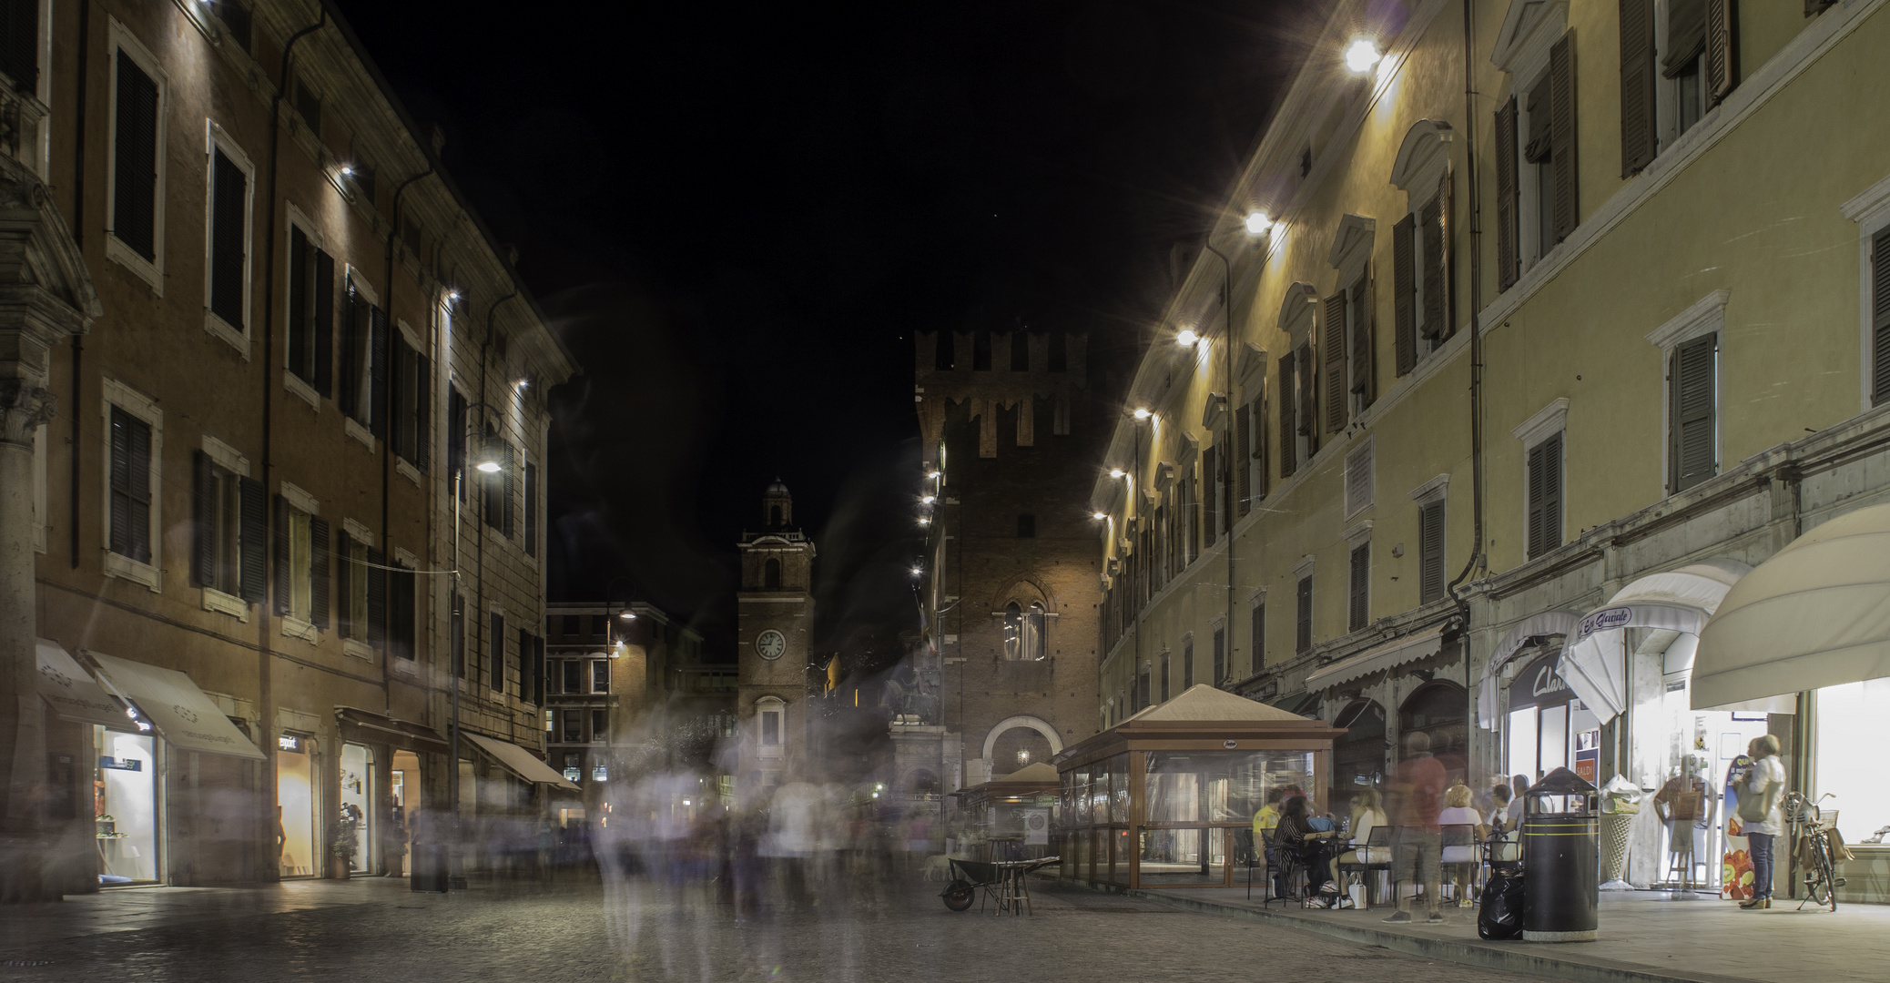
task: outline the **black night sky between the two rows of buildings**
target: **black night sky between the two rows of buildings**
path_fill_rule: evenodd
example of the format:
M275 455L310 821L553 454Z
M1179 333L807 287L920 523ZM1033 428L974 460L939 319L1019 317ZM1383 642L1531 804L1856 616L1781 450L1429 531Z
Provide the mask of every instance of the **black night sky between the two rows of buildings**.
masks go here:
M1321 6L340 4L582 365L552 599L629 575L726 650L779 474L852 658L915 622L913 331L1132 367Z

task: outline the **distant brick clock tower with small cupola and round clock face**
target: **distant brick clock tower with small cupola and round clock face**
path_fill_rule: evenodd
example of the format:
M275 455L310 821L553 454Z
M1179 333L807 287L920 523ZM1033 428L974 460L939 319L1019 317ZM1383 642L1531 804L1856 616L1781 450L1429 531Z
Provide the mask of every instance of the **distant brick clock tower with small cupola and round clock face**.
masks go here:
M762 529L741 533L737 656L745 802L765 786L807 777L809 641L815 624L815 544L794 526L794 497L775 478L762 493Z

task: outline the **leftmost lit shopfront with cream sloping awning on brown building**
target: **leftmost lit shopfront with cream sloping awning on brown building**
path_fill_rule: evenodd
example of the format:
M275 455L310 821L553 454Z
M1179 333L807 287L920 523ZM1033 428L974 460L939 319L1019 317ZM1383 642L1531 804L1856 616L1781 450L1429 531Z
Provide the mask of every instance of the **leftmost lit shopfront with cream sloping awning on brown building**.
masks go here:
M187 798L198 809L206 802L217 802L219 792L227 792L232 802L244 800L240 783L246 769L215 767L215 762L263 760L263 752L191 682L191 677L100 652L87 656L98 667L98 686L94 686L98 696L83 699L123 707L117 715L93 722L96 749L93 837L98 851L98 883L102 887L168 883L174 837L166 775L197 777L197 786ZM77 662L53 643L40 645L40 665L42 675L53 669L89 682L91 673L79 669ZM53 699L47 703L59 707ZM204 754L215 758L198 760ZM208 834L200 832L198 839L208 841ZM217 864L232 862L215 856L204 843L198 843L197 854L193 862L202 868L197 873L204 879L214 877Z

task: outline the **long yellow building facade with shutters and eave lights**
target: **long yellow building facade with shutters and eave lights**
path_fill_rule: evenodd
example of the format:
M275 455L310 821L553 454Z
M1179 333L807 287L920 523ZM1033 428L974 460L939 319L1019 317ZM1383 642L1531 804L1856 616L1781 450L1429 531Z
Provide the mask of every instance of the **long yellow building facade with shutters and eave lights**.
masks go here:
M1699 624L1642 607L1886 497L1886 53L1865 0L1338 4L1098 463L1100 724L1191 682L1317 715L1332 809L1410 732L1480 790L1712 790L1767 730L1833 786L1820 739L1869 735L1695 711ZM1667 879L1652 809L1625 836Z

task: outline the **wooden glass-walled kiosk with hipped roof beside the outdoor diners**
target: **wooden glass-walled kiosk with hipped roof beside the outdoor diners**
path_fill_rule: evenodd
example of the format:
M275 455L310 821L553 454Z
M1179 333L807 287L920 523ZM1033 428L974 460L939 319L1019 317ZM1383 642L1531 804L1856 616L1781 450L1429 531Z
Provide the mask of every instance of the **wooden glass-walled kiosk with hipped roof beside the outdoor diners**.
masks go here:
M1064 749L1060 875L1232 887L1268 790L1298 786L1325 809L1336 737L1323 720L1202 684Z

